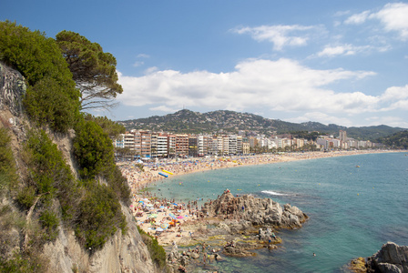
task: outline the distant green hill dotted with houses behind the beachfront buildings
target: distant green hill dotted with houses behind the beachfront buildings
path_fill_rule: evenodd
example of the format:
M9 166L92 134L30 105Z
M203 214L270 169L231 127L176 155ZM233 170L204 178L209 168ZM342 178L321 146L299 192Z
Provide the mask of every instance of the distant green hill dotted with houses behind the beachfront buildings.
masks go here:
M298 124L279 119L265 118L250 113L227 110L199 113L183 109L166 116L150 116L147 118L118 121L118 123L125 126L128 130L143 129L179 134L237 134L239 131L245 131L249 136L257 134L270 136L272 134L285 134L297 131L318 131L322 134L338 136L339 130L346 130L347 136L370 140L403 131L403 128L391 126L346 127L334 124L326 126L311 121Z

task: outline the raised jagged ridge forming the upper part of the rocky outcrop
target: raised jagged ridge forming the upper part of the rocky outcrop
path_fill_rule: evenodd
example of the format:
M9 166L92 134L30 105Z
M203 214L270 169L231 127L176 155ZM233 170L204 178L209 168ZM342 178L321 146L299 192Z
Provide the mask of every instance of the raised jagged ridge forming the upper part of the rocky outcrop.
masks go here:
M229 190L204 204L202 212L208 217L224 217L249 221L253 226L298 228L308 218L301 209L290 204L283 207L270 198L250 195L234 197Z

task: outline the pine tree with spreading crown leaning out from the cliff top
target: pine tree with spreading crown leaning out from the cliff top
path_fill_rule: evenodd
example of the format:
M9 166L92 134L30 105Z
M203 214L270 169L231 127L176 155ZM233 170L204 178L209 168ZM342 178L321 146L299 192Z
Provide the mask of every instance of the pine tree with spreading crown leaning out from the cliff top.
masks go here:
M117 83L116 58L103 52L99 44L72 31L58 33L56 43L81 93L82 110L115 106L115 97L123 91Z

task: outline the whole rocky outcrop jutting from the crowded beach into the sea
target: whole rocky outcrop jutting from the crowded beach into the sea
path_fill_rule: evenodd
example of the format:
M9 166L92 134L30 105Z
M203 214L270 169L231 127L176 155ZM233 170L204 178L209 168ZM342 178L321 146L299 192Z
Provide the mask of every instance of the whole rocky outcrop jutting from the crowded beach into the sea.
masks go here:
M181 250L176 243L168 250L168 265L174 272L187 272L197 266L214 267L209 263L223 256L255 256L254 249L278 248L280 228L297 229L307 219L298 207L251 195L234 197L227 189L204 204L199 220L183 225L193 232L179 240Z

